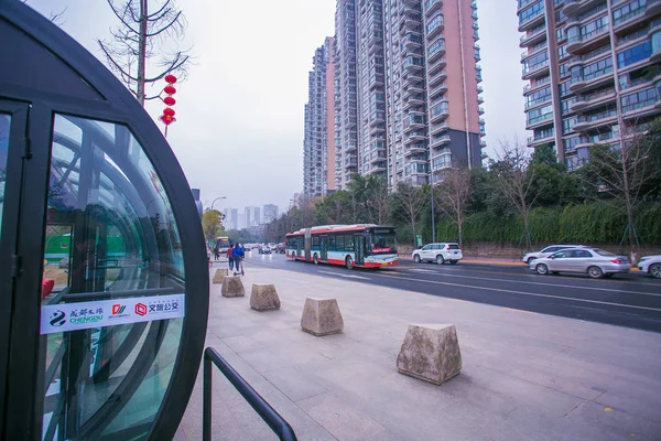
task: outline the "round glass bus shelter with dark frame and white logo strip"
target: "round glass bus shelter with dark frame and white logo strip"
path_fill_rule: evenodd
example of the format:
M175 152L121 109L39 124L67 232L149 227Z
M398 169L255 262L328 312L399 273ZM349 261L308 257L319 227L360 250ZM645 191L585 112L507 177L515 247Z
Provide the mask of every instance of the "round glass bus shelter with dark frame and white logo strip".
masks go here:
M106 67L0 0L0 438L171 439L204 349L198 212Z

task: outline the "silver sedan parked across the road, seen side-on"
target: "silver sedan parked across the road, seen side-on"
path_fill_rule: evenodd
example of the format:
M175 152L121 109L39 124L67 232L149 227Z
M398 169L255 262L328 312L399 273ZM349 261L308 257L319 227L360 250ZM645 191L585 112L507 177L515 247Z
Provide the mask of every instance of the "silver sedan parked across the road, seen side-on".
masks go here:
M626 273L631 269L626 256L617 256L599 248L568 248L548 257L534 259L530 269L539 275L559 272L583 272L593 279Z

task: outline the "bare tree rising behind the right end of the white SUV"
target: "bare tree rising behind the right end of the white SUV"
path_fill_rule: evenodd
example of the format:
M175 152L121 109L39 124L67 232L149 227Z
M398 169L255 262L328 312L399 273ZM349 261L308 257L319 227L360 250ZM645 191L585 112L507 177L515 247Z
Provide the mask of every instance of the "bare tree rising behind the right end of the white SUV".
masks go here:
M459 248L464 247L464 219L470 196L470 172L468 169L447 171L438 191L434 192L436 206L457 226Z

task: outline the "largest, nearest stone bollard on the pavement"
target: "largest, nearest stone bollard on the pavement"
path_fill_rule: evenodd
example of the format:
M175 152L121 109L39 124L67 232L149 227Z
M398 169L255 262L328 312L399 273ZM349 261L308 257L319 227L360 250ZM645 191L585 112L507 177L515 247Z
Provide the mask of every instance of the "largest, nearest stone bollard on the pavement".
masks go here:
M410 324L397 357L401 374L440 385L462 370L462 352L453 324Z

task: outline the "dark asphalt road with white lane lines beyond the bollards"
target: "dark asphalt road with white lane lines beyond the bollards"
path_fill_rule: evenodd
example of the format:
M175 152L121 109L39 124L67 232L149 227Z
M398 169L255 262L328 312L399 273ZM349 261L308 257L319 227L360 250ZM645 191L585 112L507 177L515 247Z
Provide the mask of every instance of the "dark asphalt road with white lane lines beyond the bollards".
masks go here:
M220 265L227 263L216 263ZM260 255L257 250L246 254L246 270L253 265L661 332L661 281L638 272L594 280L581 275L539 276L523 263L438 266L409 260L388 269L348 270L292 261L283 255Z

